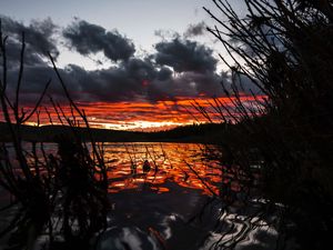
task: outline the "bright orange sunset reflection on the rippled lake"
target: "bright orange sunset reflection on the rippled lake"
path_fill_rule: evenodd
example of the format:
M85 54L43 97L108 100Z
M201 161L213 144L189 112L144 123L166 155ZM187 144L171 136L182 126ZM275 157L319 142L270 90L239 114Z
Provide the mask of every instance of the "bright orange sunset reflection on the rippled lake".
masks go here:
M194 143L109 143L109 191L150 189L162 193L170 191L167 183L174 182L204 194L219 194L221 168L204 157L204 150ZM144 160L149 161L149 171L143 170Z

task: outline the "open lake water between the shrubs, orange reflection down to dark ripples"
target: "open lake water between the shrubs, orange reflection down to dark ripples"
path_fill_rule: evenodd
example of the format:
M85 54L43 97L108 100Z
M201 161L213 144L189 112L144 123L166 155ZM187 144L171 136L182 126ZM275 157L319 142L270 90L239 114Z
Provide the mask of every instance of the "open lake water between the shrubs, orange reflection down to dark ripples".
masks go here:
M44 149L56 152L57 144ZM211 152L221 154L215 146L199 143L105 143L111 208L97 249L223 249L233 238L241 247L256 241L258 249L270 249L255 238L274 242L274 230L249 232L252 222L240 219L248 211L222 209L223 173Z

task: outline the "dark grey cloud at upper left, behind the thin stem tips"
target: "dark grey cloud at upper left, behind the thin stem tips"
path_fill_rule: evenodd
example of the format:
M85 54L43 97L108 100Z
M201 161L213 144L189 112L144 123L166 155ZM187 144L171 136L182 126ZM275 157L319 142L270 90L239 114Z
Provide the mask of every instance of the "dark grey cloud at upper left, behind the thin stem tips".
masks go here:
M29 26L12 20L9 17L0 16L3 33L11 36L12 39L21 41L22 32L26 36L27 49L41 56L47 56L50 51L54 58L59 56L56 40L52 38L57 26L50 18L38 21L33 20Z

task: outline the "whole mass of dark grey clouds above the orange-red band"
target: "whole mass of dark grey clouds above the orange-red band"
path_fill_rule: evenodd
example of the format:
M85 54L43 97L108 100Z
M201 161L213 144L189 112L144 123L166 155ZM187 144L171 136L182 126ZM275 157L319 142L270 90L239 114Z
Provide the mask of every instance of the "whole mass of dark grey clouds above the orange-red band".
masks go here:
M13 91L17 73L20 42L18 33L23 29L30 39L39 34L52 38L56 26L51 20L32 22L29 29L23 24L7 19L3 30L13 38L8 40L8 52L17 58L9 64L9 90ZM77 20L58 34L63 36L81 54L103 52L117 64L101 70L85 70L77 64L59 68L71 96L75 101L137 101L150 102L176 100L178 97L195 98L199 94L208 97L223 96L220 84L221 76L215 72L218 60L208 47L181 37L162 40L155 44L155 51L145 58L134 56L134 46L118 32ZM28 38L28 37L27 37ZM42 58L38 44L44 49L58 51L57 43L48 41L29 41L26 53L26 67L22 84L22 102L33 103L51 78L49 93L64 101L63 91L50 64ZM1 69L0 69L1 71Z

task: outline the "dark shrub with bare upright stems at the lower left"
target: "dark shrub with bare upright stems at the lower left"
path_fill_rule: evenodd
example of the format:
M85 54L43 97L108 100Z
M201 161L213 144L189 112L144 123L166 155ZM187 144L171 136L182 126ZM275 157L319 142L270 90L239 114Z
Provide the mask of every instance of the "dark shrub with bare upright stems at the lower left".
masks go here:
M59 150L54 154L48 156L43 143L38 144L33 141L31 151L26 150L21 127L32 116L39 118L41 102L51 81L46 83L34 108L28 113L24 112L19 106L24 68L23 33L18 84L14 89L14 100L11 100L7 88L7 38L2 33L0 22L0 102L13 144L13 152L8 144L1 144L0 184L12 197L12 201L2 208L1 212L9 211L13 216L8 218L9 221L3 228L1 227L0 237L10 236L9 249L33 249L37 240L43 236L47 237L44 243L49 249L89 249L91 240L107 227L109 201L103 149L89 133L84 111L71 99L50 56L73 117L65 117L61 107L52 99L51 104L60 119L59 122L63 124L62 120L67 121L72 134L69 137L67 133L58 138ZM77 119L83 121L89 133L89 143L78 133Z

